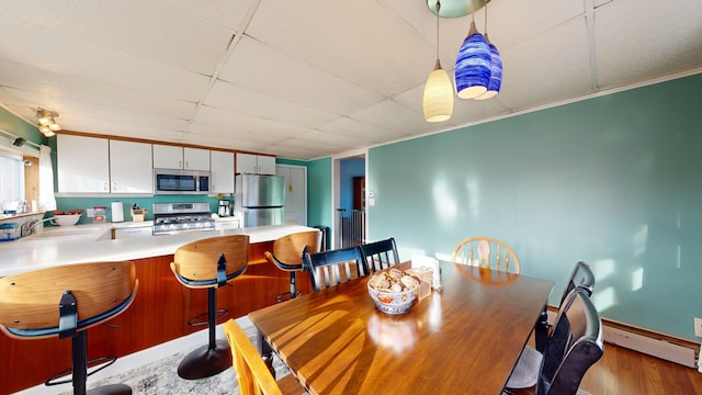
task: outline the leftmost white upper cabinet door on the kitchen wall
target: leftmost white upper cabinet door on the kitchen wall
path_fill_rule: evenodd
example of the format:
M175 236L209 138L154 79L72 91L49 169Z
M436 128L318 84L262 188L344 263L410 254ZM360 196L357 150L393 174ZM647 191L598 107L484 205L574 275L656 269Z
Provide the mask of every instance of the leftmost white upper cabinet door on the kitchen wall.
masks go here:
M110 192L106 138L56 136L58 192Z

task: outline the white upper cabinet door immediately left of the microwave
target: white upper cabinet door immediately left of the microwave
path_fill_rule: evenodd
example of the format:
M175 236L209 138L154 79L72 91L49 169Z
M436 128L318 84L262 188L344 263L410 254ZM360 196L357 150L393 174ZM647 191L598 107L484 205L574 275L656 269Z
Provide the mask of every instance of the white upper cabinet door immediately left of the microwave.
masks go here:
M110 140L112 193L154 193L151 145Z

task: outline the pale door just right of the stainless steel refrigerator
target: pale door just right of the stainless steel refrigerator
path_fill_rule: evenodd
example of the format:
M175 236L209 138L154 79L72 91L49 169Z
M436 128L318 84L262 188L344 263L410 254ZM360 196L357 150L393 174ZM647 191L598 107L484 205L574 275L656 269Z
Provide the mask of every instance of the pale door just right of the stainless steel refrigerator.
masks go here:
M275 174L285 178L285 223L307 226L307 168L279 165Z

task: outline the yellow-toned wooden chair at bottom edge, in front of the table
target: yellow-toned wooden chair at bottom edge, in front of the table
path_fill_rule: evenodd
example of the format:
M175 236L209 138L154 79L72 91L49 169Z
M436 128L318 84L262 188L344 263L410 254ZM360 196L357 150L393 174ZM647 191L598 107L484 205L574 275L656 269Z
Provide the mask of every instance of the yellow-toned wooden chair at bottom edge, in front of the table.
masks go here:
M224 323L224 334L231 348L234 371L241 395L304 394L294 375L275 381L251 340L234 319Z

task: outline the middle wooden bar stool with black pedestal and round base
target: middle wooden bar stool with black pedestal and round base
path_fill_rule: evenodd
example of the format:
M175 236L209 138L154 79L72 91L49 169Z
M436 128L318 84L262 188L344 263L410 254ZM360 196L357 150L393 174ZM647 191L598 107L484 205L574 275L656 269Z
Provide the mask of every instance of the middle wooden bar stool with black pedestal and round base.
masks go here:
M207 289L207 326L210 342L188 354L178 365L178 375L185 380L210 377L231 366L231 352L226 339L217 341L216 290L239 276L249 259L249 236L233 235L206 238L179 247L171 270L176 279L189 289ZM194 317L188 324L193 324Z

